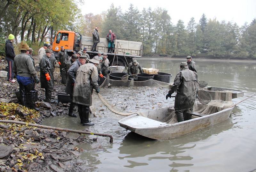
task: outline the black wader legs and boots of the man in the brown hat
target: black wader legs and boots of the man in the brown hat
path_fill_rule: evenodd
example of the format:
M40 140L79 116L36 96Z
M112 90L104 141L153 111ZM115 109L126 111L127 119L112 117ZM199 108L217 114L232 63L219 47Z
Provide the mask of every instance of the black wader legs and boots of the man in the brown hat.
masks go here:
M20 86L20 99L21 104L23 106L26 106L28 108L33 108L35 110L39 110L35 105L35 99L36 99L36 90L35 90L35 84L31 83L26 86L19 83Z

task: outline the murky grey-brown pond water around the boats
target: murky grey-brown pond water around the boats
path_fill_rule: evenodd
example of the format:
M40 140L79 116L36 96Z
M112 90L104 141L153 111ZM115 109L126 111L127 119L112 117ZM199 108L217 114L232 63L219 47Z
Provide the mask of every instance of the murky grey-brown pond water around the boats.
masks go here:
M138 61L143 67L157 68L162 72L171 73L172 81L179 71L181 62L165 59L154 61L139 59ZM233 99L235 103L255 92L256 63L195 61L199 79L208 81L209 86L247 91L244 97ZM146 91L154 92L154 89L156 88L147 87ZM133 93L132 88L127 90ZM111 97L109 91L119 96ZM137 107L150 108L145 106L152 106L154 102L158 102L158 100L152 101L158 99L157 96L156 98L142 96L145 88L138 88L137 91L138 94L133 94L139 96L127 102L128 104L135 103ZM111 90L103 88L101 92L117 107L122 101L122 96L127 97L126 88L122 87L113 87ZM166 89L157 88L157 92L164 95ZM169 105L167 101L162 102ZM173 100L170 102L173 103ZM84 127L78 118L68 116L47 118L43 122L44 125L77 130L86 128L90 131L113 135L113 143L109 143L108 138L98 137L98 140L92 144L78 145L84 149L80 158L84 161L85 171L252 171L256 168L254 160L256 97L239 103L233 109L231 118L226 121L169 140L148 139L125 131L118 124L118 120L124 116L113 114L101 105L102 103L95 95L93 103L97 117L90 119L96 123L94 126Z

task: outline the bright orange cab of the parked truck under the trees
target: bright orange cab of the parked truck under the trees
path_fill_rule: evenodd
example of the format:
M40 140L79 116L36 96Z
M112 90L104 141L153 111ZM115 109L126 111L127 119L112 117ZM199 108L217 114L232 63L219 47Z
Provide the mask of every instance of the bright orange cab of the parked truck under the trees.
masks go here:
M81 48L81 39L82 35L78 32L58 31L52 43L54 56L58 55L61 46L67 51L68 56L76 54Z

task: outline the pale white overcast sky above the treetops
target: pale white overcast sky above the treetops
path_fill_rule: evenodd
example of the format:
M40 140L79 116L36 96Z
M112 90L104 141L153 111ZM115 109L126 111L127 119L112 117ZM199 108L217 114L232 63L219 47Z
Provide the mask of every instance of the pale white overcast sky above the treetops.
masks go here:
M130 4L140 11L148 7L152 10L161 7L168 10L173 24L181 19L187 25L191 17L194 17L198 23L203 13L207 19L216 17L219 21L233 21L239 26L244 25L245 22L250 23L256 18L256 0L84 0L84 2L81 6L83 15L100 14L102 11L107 11L112 3L115 7L120 6L123 12L128 10Z

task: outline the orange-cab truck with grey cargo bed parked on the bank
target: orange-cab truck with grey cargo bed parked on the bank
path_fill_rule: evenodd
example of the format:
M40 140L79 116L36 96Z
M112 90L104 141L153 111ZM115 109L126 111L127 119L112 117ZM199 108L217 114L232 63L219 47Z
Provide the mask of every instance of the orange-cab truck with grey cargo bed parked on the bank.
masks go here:
M52 50L56 57L61 46L64 47L69 56L76 54L78 51L83 52L83 49L87 48L87 54L92 59L98 54L97 51L91 51L92 45L92 37L82 36L79 32L60 30L54 37ZM100 42L97 45L98 51L108 54L110 66L128 66L133 58L140 58L142 56L142 49L142 42L115 40L115 51L108 53L108 40L106 38L100 38Z

